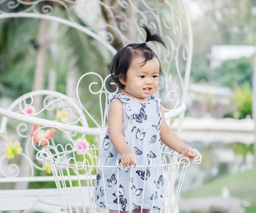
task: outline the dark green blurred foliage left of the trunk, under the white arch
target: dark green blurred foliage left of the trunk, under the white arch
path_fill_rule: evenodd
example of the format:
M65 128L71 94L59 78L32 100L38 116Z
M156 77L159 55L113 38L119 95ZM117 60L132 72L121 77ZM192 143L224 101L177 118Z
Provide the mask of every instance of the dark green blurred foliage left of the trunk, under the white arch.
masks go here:
M18 97L31 91L36 56L31 41L37 26L36 19L0 20L0 87L4 88L0 97Z

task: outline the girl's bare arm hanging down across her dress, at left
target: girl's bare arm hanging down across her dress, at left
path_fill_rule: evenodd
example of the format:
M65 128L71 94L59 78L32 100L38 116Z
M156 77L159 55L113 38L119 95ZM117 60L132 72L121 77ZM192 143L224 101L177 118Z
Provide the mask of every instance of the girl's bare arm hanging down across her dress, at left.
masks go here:
M123 105L115 98L112 99L108 111L108 133L109 139L117 152L121 155L121 163L127 167L128 164L136 164L137 155L126 143L123 131Z

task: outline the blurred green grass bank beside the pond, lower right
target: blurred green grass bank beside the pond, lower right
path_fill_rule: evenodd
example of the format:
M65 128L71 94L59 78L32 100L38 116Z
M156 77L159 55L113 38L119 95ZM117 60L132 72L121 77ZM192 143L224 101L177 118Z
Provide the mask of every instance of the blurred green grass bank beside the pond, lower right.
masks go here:
M256 213L256 169L243 173L221 176L202 186L180 194L180 198L202 198L220 195L227 187L231 197L247 199L252 205L246 207L246 213Z

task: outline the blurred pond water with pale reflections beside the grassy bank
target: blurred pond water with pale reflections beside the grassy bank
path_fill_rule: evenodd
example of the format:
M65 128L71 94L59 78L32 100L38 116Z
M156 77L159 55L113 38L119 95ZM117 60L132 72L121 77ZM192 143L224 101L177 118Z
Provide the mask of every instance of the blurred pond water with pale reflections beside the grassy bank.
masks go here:
M186 171L182 192L210 182L224 174L234 174L254 167L254 145L244 143L188 143L202 154L199 165Z

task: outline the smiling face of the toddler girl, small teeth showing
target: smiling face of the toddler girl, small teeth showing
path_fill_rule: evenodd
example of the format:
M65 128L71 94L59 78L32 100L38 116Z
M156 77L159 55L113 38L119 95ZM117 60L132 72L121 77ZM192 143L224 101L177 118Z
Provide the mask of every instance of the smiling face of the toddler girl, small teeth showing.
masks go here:
M126 80L119 79L124 84L124 93L139 101L148 101L148 97L154 94L159 84L159 61L153 58L141 66L143 59L132 61L126 73Z

